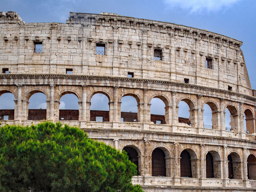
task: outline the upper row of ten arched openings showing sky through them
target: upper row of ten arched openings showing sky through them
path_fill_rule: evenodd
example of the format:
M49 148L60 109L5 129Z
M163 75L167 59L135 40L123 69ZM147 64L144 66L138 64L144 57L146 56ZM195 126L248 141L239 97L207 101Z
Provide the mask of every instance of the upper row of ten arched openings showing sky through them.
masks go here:
M8 92L8 91L5 91ZM3 91L2 91L3 93ZM11 94L11 93L5 93L5 94ZM4 98L4 95L2 94L0 97L0 100ZM40 95L40 96L39 96ZM37 96L37 97L36 97ZM60 94L60 100L59 102L59 107L58 110L65 110L65 109L70 109L70 110L79 110L81 106L79 105L79 102L81 103L81 97L76 94L76 92L72 91L66 91L62 92ZM14 95L12 95L14 97ZM33 98L36 99L36 105L32 104ZM69 98L66 99L65 98ZM49 103L47 104L47 96L45 95L44 92L40 90L33 90L29 92L26 96L28 98L28 110L29 109L47 109L47 106L49 106ZM41 103L39 102L39 99L41 100ZM90 100L89 100L90 99ZM5 99L3 99L5 100ZM14 98L15 100L15 98ZM105 114L107 114L108 118L106 118L108 121L110 119L110 104L112 102L112 97L108 95L108 92L104 91L94 91L90 93L87 97L87 103L90 105L90 110L102 110L102 111L108 111ZM142 122L143 119L141 119L141 111L145 110L143 106L141 106L141 101L142 101L142 96L135 94L135 93L124 93L121 94L118 98L118 105L120 105L119 114L120 112L131 112L135 113L134 118L124 118L122 115L118 115L118 121L124 121L124 122L133 122L136 120L136 122ZM155 124L170 124L171 117L169 114L170 106L172 108L172 103L169 101L168 97L160 94L155 94L149 98L149 104L148 104L148 121L153 122ZM9 103L9 102L8 102ZM13 102L12 102L13 103ZM30 107L33 106L34 108ZM58 105L57 105L58 106ZM220 107L218 104L216 104L215 101L205 101L202 102L201 109L200 111L196 112L197 106L195 104L195 101L189 98L180 98L176 102L175 110L174 112L179 114L179 117L181 118L186 118L188 119L187 121L185 119L178 119L178 123L185 123L191 126L200 126L199 125L199 120L201 119L201 126L204 128L208 129L220 129ZM14 107L13 107L14 108ZM56 108L56 107L55 107ZM239 110L236 106L233 104L226 104L223 106L224 111L224 126L226 127L226 130L228 131L236 131L238 132L238 117ZM2 108L4 109L4 108ZM168 111L169 110L169 111ZM32 113L33 111L30 110ZM35 113L35 111L34 111ZM42 110L40 115L37 115L37 119L33 119L33 115L31 115L28 111L28 120L42 120L46 119L46 110ZM67 112L65 112L67 113ZM65 114L64 113L64 114ZM68 118L68 116L64 116L62 113L59 112L59 114L56 114L56 116L59 117L59 120L79 120L79 115L81 115L81 112L78 111L70 111L71 115L73 114L75 117L72 119ZM253 133L255 132L255 118L254 118L254 112L252 111L251 108L244 108L243 110L243 119L244 119L244 130L247 131L247 133ZM43 115L42 115L43 114ZM89 113L88 113L89 114ZM158 115L158 116L152 116L150 114ZM69 115L69 116L71 116ZM197 115L200 117L198 118ZM112 115L113 116L113 115ZM93 118L91 119L91 116L89 116L91 121L95 121ZM145 117L143 117L145 118ZM87 118L88 119L88 118ZM89 120L89 119L88 119ZM240 120L241 121L241 120Z

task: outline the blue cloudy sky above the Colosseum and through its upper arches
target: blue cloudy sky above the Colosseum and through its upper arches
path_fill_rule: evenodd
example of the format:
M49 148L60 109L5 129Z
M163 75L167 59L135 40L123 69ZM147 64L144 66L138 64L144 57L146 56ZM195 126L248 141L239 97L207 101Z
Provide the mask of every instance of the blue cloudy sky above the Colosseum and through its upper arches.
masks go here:
M0 11L15 11L26 23L65 23L68 19L69 12L114 12L125 16L167 21L220 33L244 42L241 49L244 53L252 88L256 89L256 76L254 75L255 59L253 56L255 55L254 45L256 43L255 0L0 0L0 4ZM68 98L68 95L66 97ZM104 96L95 95L94 97L96 98L95 101L97 101L97 104L92 103L91 107L97 109L97 106L103 106L101 102L105 103ZM44 101L40 103L38 102L38 98ZM0 99L7 101L8 99L10 100L10 96L2 95ZM32 103L32 100L35 100L35 104L34 106L30 104L30 108L45 107L45 99L42 96L31 97L30 103ZM70 101L70 98L66 100ZM74 103L77 103L76 99L72 100L74 100ZM132 102L129 98L123 98L123 100L128 100L128 103ZM62 98L60 102L61 108L75 106L75 104L70 104L69 106L68 103L70 102L65 102L65 98ZM9 103L1 102L0 108L7 108L8 106L6 105L9 105ZM152 101L151 107L154 108L155 112L160 114L163 113L158 107L161 105L163 105L161 102L154 100ZM180 105L182 104L180 103ZM108 106L106 107L108 108ZM184 105L184 107L187 106ZM124 104L122 106L124 111L134 111L136 108L131 107L131 104L127 104L126 106ZM188 116L185 111L187 109L184 109L182 114ZM206 109L204 116L208 116ZM228 114L226 114L227 116ZM209 119L211 117L209 116L207 119L207 121L205 120L205 124L210 124Z

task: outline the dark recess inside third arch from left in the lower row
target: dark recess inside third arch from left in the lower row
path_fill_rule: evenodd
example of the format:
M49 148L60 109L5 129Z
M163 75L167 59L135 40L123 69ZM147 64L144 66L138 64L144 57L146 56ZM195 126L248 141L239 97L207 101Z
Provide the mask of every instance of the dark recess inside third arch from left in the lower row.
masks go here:
M192 177L191 158L188 151L182 151L180 157L180 177Z

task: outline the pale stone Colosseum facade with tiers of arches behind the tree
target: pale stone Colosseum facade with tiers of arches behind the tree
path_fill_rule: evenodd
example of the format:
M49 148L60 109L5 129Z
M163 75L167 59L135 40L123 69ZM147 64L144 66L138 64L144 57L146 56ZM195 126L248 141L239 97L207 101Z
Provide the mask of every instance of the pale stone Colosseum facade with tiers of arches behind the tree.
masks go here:
M0 12L0 34L0 95L14 96L14 108L0 110L1 124L77 125L127 151L138 166L132 182L146 192L256 191L256 90L241 41L106 12L70 12L66 23L25 23ZM38 92L47 108L29 109ZM90 110L97 93L107 96L108 111ZM60 109L65 94L76 95L78 110ZM137 113L121 112L125 96L136 99ZM154 98L164 115L151 114ZM187 119L178 116L180 101Z

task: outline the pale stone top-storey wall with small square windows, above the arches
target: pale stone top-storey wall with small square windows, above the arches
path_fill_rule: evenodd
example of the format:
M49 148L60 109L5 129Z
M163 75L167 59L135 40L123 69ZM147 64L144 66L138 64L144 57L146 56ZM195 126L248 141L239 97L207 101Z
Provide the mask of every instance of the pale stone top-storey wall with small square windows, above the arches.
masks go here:
M70 12L67 23L24 23L0 12L0 68L12 74L119 76L184 82L253 95L241 41L167 22ZM42 42L42 53L35 53ZM105 44L105 55L96 53ZM155 49L162 60L154 59ZM207 58L212 68L205 67ZM253 95L254 96L254 95Z

